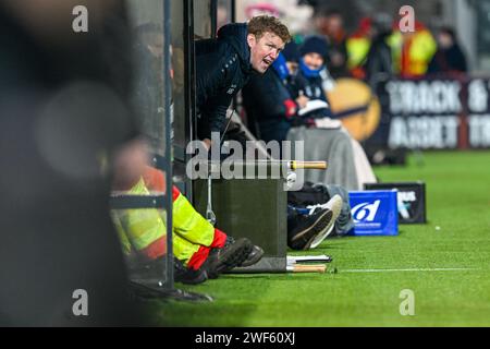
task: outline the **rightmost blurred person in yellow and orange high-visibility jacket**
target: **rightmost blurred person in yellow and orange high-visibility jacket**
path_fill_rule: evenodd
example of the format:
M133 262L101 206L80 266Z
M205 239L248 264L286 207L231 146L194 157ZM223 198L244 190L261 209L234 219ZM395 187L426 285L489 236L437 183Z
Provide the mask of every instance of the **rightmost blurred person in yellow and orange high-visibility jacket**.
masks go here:
M402 77L417 77L427 73L437 51L437 41L420 22L415 23L414 33L393 32L389 38L393 52L394 72Z

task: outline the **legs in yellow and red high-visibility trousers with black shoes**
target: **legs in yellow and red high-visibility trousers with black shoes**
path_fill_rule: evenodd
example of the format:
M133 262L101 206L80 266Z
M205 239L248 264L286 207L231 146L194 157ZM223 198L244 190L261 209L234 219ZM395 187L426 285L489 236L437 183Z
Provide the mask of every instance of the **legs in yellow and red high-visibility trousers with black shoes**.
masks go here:
M164 191L163 172L146 167L144 176L127 190L127 194L149 195L151 192ZM205 277L203 273L200 277L184 276L176 281L197 284L207 277L217 277L235 266L253 265L264 255L264 251L253 245L248 239L235 241L216 229L194 209L176 186L172 189L172 200L173 254L189 272L199 270L206 274ZM148 208L115 210L112 216L125 254L136 253L147 261L156 261L167 254L164 214ZM206 270L200 270L203 268Z

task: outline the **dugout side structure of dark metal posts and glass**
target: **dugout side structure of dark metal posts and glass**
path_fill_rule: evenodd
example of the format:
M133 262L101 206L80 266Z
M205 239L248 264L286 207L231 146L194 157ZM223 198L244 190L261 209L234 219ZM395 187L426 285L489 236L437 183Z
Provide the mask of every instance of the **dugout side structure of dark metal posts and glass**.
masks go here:
M181 292L173 284L172 185L193 200L193 183L185 176L185 147L195 137L194 41L213 37L217 0L127 0L133 36L136 76L133 101L139 124L149 141L150 166L163 171L164 191L113 192L112 216L127 212L157 212L164 225L166 256L151 270L128 255L131 280L138 293L198 298ZM220 1L234 12L232 0ZM233 19L228 19L231 22ZM115 219L117 225L121 221ZM134 249L134 241L123 243ZM205 297L205 299L208 299Z

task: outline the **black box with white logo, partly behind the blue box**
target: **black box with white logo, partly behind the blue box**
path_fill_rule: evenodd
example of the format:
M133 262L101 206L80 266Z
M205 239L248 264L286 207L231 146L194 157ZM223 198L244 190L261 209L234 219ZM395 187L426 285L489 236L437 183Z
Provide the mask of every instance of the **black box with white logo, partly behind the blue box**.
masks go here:
M366 190L393 190L397 193L397 208L400 224L427 222L426 184L413 183L376 183L365 184Z

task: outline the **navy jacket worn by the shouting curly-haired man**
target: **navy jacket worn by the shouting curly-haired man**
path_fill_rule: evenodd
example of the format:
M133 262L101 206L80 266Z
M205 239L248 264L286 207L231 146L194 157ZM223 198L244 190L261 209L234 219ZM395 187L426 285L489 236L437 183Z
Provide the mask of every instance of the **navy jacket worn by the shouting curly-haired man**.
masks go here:
M196 85L200 140L224 131L226 109L253 74L247 25L221 27L218 39L196 43Z

